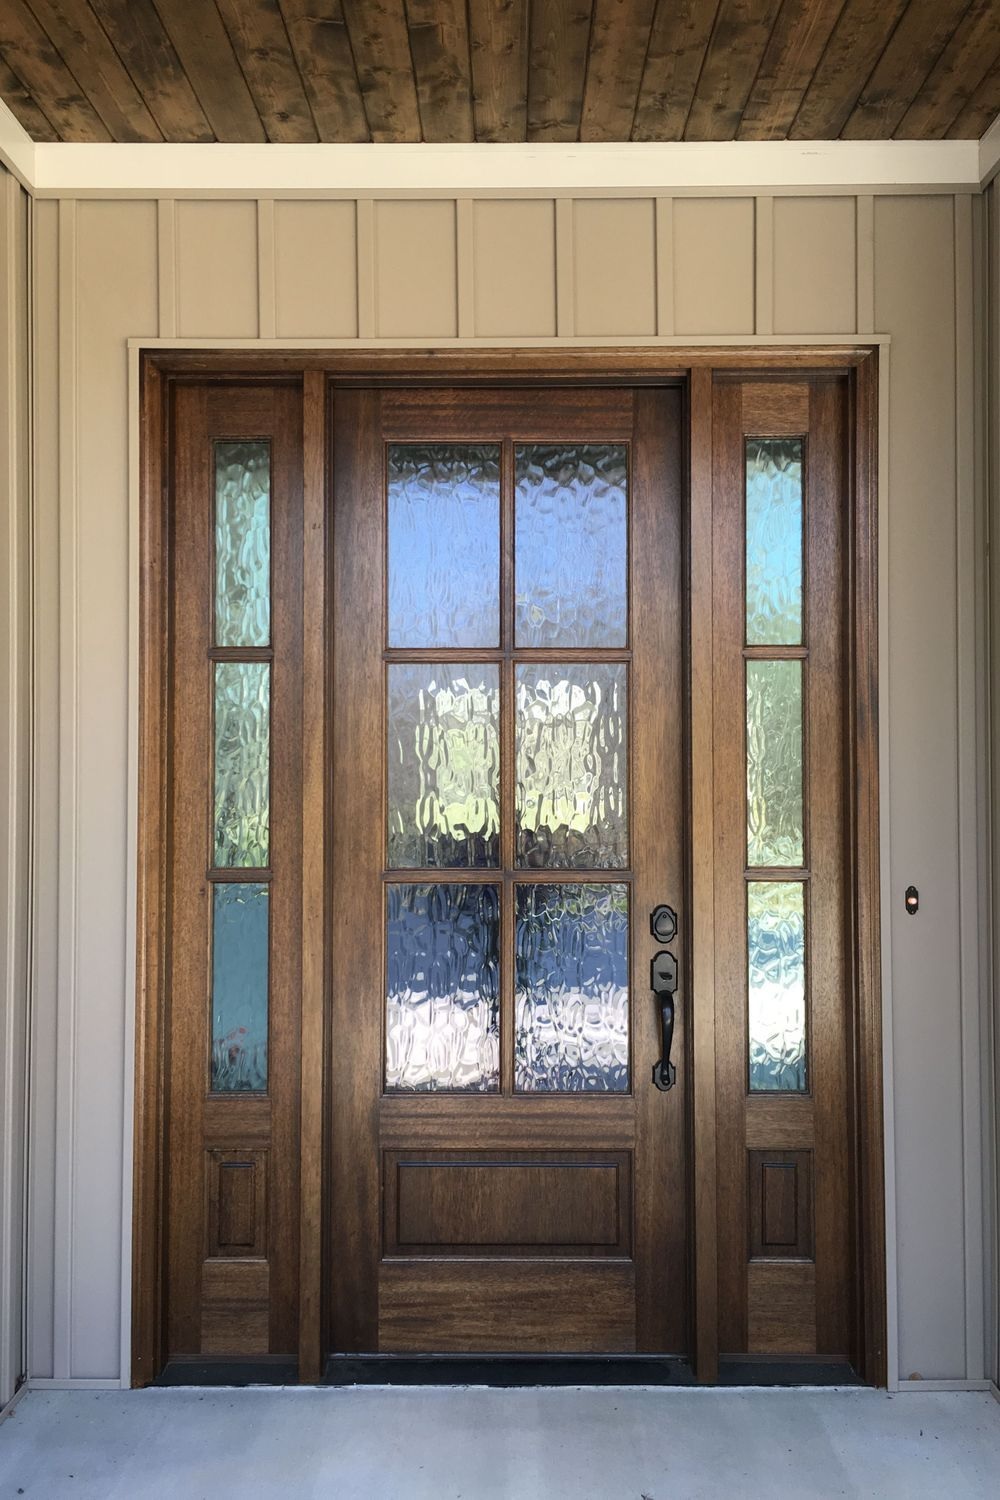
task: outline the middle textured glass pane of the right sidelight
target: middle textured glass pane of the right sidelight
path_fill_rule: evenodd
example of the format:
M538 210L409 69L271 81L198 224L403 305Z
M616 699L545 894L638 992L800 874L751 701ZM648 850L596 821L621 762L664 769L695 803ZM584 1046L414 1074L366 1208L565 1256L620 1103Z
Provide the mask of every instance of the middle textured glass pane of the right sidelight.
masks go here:
M802 864L802 663L747 663L747 861Z

